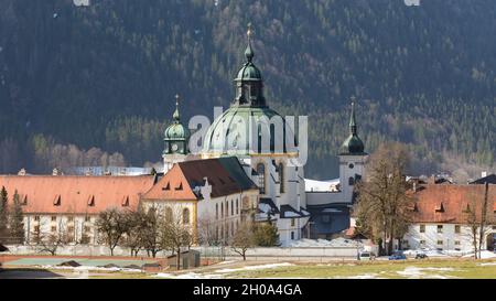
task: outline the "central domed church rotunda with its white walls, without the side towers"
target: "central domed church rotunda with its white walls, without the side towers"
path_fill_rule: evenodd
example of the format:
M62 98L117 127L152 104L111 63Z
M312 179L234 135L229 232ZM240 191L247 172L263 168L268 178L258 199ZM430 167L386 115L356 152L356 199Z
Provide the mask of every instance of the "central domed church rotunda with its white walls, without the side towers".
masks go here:
M301 229L309 219L309 214L302 211L306 207L304 172L303 166L290 163L299 155L294 125L287 125L281 115L269 108L263 96L263 78L254 63L251 33L249 28L246 62L234 79L235 99L206 131L202 157L238 158L260 190L263 204L257 218L276 219L280 243L287 245L302 237ZM277 213L265 212L268 204Z

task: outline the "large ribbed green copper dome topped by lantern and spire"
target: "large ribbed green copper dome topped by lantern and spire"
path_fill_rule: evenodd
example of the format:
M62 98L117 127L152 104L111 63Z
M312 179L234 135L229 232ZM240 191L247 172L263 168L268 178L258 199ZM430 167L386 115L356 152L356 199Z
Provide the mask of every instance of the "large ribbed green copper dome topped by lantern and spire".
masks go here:
M262 76L252 63L251 29L248 30L245 56L247 61L235 78L235 101L208 128L204 153L249 155L295 152L294 141L291 146L285 143L287 136L294 138L293 132L285 126L284 119L266 105Z

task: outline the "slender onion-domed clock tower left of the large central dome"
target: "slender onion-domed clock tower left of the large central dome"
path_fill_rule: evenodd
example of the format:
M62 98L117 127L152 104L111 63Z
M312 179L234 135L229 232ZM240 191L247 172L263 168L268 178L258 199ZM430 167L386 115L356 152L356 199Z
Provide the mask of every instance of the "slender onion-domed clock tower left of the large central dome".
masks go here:
M190 130L181 123L179 110L179 95L175 96L175 111L172 115L172 123L163 133L164 150L162 153L164 163L164 173L168 172L174 163L183 162L190 150Z

